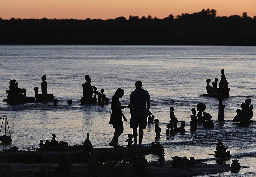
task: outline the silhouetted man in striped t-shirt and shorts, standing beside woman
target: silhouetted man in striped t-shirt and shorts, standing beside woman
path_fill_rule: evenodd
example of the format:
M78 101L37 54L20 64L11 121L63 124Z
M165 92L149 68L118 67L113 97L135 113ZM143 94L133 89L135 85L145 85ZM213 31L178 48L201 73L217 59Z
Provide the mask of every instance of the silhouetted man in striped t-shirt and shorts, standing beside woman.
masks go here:
M131 92L130 95L130 128L132 128L132 134L134 138L134 145L137 145L139 126L139 147L142 146L143 129L147 126L147 116L150 108L150 96L147 90L142 89L142 82L135 82L136 89Z

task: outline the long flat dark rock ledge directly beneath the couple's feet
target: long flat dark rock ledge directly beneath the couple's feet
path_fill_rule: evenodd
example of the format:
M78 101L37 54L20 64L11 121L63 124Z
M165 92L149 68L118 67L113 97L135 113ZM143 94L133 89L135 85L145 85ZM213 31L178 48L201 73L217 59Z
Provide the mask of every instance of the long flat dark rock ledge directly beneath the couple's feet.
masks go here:
M93 148L93 154L98 161L104 161L108 158L115 160L122 156L139 156L148 154L162 153L163 149L158 147L145 148ZM10 163L57 163L61 156L69 157L73 163L86 163L91 153L87 150L77 151L19 151L19 152L3 152L0 153L0 162Z

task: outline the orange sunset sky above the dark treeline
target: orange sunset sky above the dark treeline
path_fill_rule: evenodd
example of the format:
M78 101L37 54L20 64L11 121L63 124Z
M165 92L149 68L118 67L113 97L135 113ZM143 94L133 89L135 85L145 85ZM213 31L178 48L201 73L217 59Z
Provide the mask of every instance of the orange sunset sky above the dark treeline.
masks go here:
M256 0L0 0L0 17L56 19L113 19L193 13L214 8L218 16L256 16Z

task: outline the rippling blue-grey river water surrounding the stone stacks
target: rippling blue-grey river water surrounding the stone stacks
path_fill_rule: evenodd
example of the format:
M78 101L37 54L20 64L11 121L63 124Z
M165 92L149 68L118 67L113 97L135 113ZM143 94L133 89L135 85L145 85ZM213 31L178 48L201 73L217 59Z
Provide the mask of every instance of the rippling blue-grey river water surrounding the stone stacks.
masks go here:
M16 79L20 88L27 89L27 96L34 96L33 88L40 88L44 74L48 93L58 99L57 106L52 102L20 105L0 102L0 115L7 115L12 132L12 146L20 149L28 149L30 145L38 147L40 139L51 140L52 134L57 136L56 140L68 144L82 144L90 133L94 147L110 147L108 143L113 136L112 125L108 124L111 104L80 104L84 75L90 75L91 84L98 89L104 88L108 98L117 88L123 88L122 105L128 105L135 81L141 80L151 96L150 111L159 119L162 132L158 142L164 146L166 160L173 156L194 156L218 163L213 154L217 140L222 139L232 155L225 163L238 159L243 168L238 174L225 172L221 176L256 175L255 118L246 126L232 122L236 109L245 99L250 98L251 104L256 100L256 47L0 46L0 63L0 100L6 98L5 90L11 79ZM230 98L223 101L225 122L219 123L217 99L202 94L206 93L206 79L220 80L222 68L229 82ZM72 105L68 105L67 100L73 100ZM197 131L190 132L191 108L196 108L200 102L206 104L205 111L212 115L215 127L205 129L198 125ZM165 135L170 106L174 107L178 120L186 122L186 133ZM129 121L129 110L123 112ZM1 135L3 133L2 130ZM124 141L129 133L132 129L124 122L120 145L126 144ZM143 143L149 145L154 141L155 125L149 124ZM9 147L0 146L0 150ZM146 158L156 160L155 156Z

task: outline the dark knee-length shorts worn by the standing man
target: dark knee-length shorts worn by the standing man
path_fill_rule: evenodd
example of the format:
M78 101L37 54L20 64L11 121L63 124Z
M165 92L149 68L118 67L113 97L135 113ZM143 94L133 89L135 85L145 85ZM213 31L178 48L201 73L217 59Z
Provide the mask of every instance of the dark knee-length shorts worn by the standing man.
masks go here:
M147 127L147 115L146 114L133 114L130 119L130 128L146 129Z

